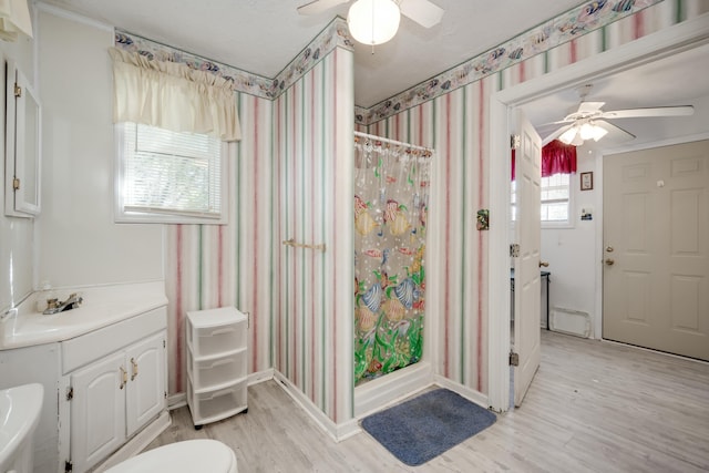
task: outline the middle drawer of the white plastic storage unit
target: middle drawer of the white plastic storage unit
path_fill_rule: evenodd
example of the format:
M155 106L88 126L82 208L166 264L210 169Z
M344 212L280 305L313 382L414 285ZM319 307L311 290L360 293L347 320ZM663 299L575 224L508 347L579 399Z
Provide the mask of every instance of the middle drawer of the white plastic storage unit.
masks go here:
M246 378L246 348L226 357L195 360L187 350L187 369L196 392Z

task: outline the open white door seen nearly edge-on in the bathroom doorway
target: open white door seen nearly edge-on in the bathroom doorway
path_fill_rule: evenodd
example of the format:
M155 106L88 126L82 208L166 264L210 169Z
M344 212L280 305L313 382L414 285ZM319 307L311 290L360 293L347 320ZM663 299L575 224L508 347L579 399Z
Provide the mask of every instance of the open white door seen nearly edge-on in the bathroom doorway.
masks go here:
M530 389L540 367L541 312L541 181L542 138L522 111L517 111L520 147L515 158L517 222L515 241L520 256L514 260L514 351L520 363L514 368L514 404Z

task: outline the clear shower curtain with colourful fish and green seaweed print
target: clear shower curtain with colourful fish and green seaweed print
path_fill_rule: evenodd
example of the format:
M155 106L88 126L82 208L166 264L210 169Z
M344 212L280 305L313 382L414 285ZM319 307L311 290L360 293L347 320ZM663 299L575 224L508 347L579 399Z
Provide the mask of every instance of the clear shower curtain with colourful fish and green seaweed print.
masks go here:
M432 151L356 133L354 383L423 352Z

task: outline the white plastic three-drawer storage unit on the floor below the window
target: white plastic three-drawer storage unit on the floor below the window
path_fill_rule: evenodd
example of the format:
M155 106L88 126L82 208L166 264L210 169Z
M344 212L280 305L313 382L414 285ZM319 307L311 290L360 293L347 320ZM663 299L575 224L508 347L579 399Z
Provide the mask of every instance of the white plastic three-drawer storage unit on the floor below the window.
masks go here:
M247 412L248 317L233 307L187 312L187 404L195 429Z

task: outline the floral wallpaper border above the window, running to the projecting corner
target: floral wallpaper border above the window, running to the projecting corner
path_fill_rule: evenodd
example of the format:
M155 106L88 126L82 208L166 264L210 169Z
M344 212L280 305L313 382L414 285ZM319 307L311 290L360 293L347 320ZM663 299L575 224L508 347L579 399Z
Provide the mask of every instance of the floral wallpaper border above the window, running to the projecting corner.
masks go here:
M275 79L210 61L120 29L115 30L115 47L137 52L151 60L184 63L192 69L209 71L233 81L235 91L274 100L335 48L351 50L353 42L347 21L336 17Z

